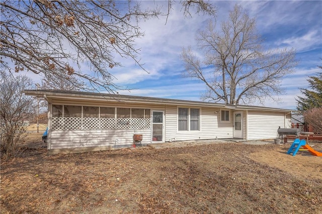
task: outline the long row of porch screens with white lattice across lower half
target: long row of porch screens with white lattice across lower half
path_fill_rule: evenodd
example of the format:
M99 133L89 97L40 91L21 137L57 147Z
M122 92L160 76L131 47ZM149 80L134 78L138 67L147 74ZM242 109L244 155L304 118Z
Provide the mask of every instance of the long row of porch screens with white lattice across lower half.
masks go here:
M52 105L53 130L150 129L150 109Z

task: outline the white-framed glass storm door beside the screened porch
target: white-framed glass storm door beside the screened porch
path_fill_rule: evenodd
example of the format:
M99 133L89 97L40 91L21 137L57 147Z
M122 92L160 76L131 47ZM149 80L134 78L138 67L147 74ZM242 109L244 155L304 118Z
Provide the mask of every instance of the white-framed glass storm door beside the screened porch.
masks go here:
M152 143L165 142L164 112L152 111Z

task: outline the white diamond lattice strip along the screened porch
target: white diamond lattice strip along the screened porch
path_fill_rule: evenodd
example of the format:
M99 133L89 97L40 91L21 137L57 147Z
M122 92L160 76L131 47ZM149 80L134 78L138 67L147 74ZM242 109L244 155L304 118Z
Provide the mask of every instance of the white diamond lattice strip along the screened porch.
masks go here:
M150 129L146 118L52 118L53 130Z

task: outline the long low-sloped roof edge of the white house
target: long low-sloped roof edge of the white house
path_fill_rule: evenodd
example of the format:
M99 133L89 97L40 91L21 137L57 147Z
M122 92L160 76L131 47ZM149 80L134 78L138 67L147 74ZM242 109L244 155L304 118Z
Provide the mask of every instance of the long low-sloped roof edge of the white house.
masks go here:
M24 90L26 95L45 97L45 98L68 98L68 99L85 99L85 100L107 100L119 102L135 102L135 103L150 103L150 104L176 104L176 105L193 105L193 106L208 106L215 108L226 108L231 110L257 110L257 111L272 111L272 112L297 112L295 110L269 108L255 105L240 105L240 104L224 104L203 101L191 101L182 99L157 98L148 96L133 96L121 95L113 93L95 93L85 91L67 91L67 90Z

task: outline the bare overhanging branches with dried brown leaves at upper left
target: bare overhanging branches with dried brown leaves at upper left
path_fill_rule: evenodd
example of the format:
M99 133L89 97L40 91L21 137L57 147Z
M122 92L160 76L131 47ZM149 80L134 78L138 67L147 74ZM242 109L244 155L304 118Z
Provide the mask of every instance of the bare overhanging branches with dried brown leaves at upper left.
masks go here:
M144 35L139 21L168 16L172 2L168 14L162 14L158 6L141 10L135 1L1 1L1 64L53 78L75 75L113 92L118 86L111 69L121 65L115 57L132 58L142 67L134 45ZM191 6L208 15L216 12L203 0L181 4L185 14ZM83 63L93 74L82 70Z

